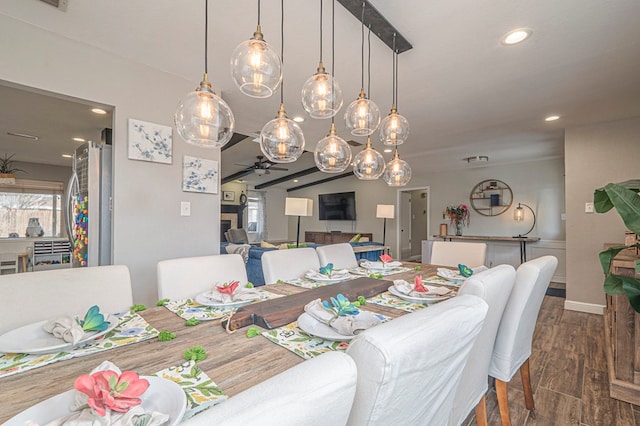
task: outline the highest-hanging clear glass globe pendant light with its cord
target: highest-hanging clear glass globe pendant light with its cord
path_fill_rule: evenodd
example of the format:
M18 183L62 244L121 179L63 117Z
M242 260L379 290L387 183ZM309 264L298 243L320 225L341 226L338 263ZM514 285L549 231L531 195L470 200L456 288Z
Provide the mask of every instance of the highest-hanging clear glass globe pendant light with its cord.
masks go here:
M240 43L231 55L231 77L238 89L252 98L268 98L282 81L280 57L263 38L260 0L258 26L253 37Z

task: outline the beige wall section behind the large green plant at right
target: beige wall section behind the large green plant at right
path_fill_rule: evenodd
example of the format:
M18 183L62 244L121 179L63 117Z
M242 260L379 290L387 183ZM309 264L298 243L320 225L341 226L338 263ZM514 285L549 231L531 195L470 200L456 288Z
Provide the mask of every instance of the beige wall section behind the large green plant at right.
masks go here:
M584 204L607 183L640 174L640 117L567 129L567 301L572 309L604 305L604 275L598 252L604 243L623 243L625 226L615 211L587 214Z

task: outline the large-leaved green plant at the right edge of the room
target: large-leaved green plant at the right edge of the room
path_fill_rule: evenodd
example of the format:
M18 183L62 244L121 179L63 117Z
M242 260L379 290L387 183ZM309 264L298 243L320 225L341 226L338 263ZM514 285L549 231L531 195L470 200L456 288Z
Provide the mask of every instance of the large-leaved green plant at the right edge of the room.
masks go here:
M606 213L615 208L626 227L640 235L640 179L620 183L610 183L596 189L593 194L595 211ZM611 273L611 262L618 253L628 248L640 247L638 242L629 245L610 247L600 252L600 264L605 274L604 290L607 294L626 294L629 303L640 313L640 280L634 277ZM640 259L635 261L636 273L640 271Z

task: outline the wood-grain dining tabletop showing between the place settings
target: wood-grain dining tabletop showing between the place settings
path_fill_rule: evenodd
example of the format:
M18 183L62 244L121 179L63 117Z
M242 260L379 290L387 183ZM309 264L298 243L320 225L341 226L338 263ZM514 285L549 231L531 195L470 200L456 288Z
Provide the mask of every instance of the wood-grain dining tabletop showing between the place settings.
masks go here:
M416 275L427 277L436 273L436 266L432 265L403 262L403 266L412 269L383 279L413 281ZM413 269L417 266L420 268ZM261 288L281 295L308 291L286 283ZM406 314L399 309L373 303L368 303L366 309L390 318ZM184 362L183 352L200 345L206 350L207 357L199 361L198 366L230 397L304 361L262 336L247 337L247 328L228 334L220 320L186 326L184 319L157 306L139 314L157 330L175 333L176 338L165 342L154 338L0 378L0 423L40 401L72 389L78 376L90 372L106 360L123 371L133 370L141 375L151 375Z

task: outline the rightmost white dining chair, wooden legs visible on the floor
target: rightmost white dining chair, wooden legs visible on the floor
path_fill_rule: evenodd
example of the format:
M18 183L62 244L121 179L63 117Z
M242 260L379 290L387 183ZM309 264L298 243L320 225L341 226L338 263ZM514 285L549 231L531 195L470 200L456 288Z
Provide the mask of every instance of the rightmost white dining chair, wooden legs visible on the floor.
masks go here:
M533 331L542 300L558 267L554 256L542 256L518 267L516 285L502 315L493 347L489 375L496 379L496 393L502 425L511 424L507 383L520 371L525 406L535 418L533 390L529 372L529 357Z

